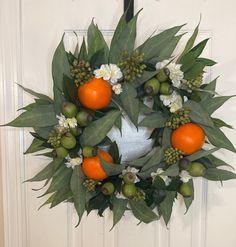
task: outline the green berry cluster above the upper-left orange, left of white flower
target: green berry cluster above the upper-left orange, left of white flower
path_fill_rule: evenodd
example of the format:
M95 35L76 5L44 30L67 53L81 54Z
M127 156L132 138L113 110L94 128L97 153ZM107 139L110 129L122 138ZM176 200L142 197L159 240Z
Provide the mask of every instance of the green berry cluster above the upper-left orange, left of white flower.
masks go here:
M84 60L78 61L77 59L75 59L70 66L70 72L77 87L80 84L89 81L93 75L90 63Z

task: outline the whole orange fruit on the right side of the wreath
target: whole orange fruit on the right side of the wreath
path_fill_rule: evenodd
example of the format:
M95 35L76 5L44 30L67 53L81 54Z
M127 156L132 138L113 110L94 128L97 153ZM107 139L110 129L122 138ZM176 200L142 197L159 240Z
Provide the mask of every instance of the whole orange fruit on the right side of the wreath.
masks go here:
M171 135L172 146L181 150L185 155L190 155L200 150L204 142L204 130L195 123L181 125Z

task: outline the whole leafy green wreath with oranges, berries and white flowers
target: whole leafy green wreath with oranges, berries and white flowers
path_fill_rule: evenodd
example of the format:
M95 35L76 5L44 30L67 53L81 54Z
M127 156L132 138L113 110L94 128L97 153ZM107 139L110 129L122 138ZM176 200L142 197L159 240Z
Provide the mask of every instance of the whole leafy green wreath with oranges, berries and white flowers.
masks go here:
M110 47L93 21L87 41L73 53L62 38L52 61L54 98L20 85L35 101L6 124L33 128L25 154L46 149L40 155L51 161L27 181L46 181L43 205L73 203L79 222L85 211L102 216L109 208L113 226L126 210L141 222L162 216L167 224L178 194L190 207L195 177L236 178L220 169L229 165L213 155L235 148L221 130L232 127L211 116L231 96L215 92L216 79L203 82L205 68L215 65L200 57L208 39L194 45L198 25L174 57L181 25L135 47L137 18L120 18ZM137 128L152 130L152 149L129 162L108 138L112 128L122 130L124 116Z

